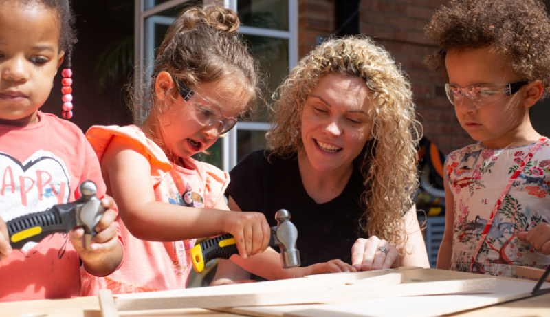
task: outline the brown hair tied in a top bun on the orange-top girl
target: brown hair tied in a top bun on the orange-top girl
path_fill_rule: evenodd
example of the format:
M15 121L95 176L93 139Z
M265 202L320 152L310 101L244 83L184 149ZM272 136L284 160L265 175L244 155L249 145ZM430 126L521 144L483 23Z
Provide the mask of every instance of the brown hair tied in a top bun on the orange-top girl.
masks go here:
M186 85L199 86L221 78L234 78L235 87L243 91L246 105L239 118L252 117L263 98L265 80L259 62L247 50L239 30L237 14L221 6L190 6L168 28L153 65L149 85L134 89L129 85L129 105L133 111L148 113L144 122L136 122L146 135L166 152L156 135L159 118L170 109L171 102L157 102L155 82L166 71ZM170 91L168 91L170 93ZM170 157L170 153L166 153Z

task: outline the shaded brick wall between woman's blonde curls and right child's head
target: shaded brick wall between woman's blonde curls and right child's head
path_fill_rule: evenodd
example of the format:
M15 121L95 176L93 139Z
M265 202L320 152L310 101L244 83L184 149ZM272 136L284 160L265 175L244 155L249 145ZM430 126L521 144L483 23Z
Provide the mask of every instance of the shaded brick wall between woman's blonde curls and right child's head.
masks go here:
M362 0L360 32L372 36L395 56L410 76L424 135L449 153L474 140L460 126L445 96L443 77L432 74L423 58L439 50L423 34L435 8L448 0Z

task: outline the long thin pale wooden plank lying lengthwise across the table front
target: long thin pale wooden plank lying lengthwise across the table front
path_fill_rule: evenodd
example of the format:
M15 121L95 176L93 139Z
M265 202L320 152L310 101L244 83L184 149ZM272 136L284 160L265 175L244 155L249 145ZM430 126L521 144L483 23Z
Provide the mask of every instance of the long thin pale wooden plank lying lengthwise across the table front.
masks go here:
M256 292L251 294L223 294L213 296L178 296L168 298L116 299L119 311L142 309L175 308L215 308L261 305L292 305L307 303L342 303L349 300L366 300L387 296L419 296L430 294L450 294L472 290L496 288L496 278L477 278L459 281L439 281L426 283L406 283L373 287L369 284L352 285L349 289L328 287L279 292Z

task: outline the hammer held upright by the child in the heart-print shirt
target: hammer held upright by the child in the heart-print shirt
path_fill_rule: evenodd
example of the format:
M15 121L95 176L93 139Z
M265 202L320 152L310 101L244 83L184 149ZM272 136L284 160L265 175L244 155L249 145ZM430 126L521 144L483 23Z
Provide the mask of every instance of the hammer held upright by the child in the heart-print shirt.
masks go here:
M50 234L67 233L74 227L83 226L82 244L86 250L91 250L91 239L97 234L95 228L105 208L96 196L96 183L82 182L78 191L81 196L72 203L54 205L48 210L6 222L12 248L21 249L29 241L40 242Z

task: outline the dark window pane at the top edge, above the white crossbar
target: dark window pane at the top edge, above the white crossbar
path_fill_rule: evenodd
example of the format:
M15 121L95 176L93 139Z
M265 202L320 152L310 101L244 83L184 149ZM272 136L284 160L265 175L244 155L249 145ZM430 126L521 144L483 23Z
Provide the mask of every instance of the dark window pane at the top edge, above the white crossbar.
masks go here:
M288 0L238 0L236 8L243 25L288 30Z

